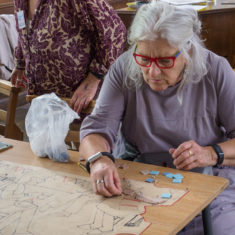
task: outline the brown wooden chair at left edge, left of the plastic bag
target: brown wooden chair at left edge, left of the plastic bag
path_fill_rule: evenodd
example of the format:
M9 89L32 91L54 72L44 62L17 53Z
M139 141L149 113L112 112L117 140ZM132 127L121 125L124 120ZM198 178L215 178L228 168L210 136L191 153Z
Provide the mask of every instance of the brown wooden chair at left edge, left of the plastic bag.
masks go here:
M0 134L6 138L23 140L23 132L15 123L18 94L22 91L11 82L0 79L0 93L8 96L7 110L0 109Z

